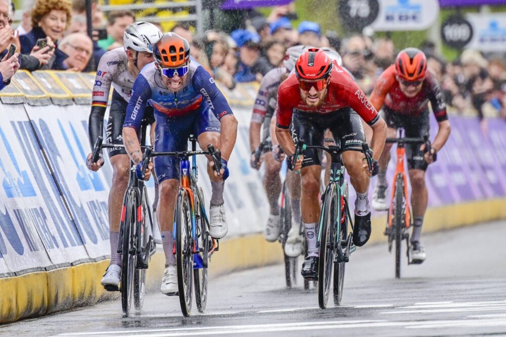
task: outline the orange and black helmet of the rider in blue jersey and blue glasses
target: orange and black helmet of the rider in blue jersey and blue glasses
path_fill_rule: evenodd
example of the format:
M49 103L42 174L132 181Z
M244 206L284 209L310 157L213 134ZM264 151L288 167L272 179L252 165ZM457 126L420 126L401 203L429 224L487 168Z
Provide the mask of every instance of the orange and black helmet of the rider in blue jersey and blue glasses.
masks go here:
M190 44L176 33L165 33L153 45L153 56L163 67L178 68L190 60Z

